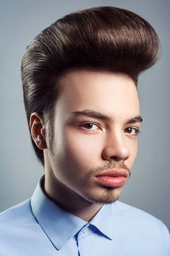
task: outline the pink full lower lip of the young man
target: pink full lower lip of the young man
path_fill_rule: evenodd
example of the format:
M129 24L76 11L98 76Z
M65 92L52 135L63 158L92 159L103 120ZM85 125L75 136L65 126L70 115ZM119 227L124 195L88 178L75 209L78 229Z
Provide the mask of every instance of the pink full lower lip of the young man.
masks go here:
M125 184L125 177L110 177L110 176L99 176L96 177L98 182L104 186L108 186L111 188L117 188L119 186L123 186Z

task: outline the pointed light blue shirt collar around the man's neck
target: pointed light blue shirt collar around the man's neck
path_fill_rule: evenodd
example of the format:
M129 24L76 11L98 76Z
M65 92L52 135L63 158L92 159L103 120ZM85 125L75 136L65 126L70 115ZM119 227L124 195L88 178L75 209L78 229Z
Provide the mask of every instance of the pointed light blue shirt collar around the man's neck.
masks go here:
M88 222L65 211L51 201L42 190L42 182L44 183L44 181L45 175L39 179L31 197L31 209L48 238L57 250L60 250ZM115 203L103 205L89 221L89 224L94 225L101 232L101 235L111 240L113 239L111 219L113 219L114 207Z

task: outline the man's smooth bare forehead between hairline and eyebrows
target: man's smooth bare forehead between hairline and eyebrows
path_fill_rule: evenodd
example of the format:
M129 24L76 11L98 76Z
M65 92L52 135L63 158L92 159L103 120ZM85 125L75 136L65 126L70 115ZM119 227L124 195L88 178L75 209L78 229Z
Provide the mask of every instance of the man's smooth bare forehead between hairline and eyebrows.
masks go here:
M94 109L103 113L140 114L139 97L132 79L94 70L72 70L62 79L60 107L68 112Z

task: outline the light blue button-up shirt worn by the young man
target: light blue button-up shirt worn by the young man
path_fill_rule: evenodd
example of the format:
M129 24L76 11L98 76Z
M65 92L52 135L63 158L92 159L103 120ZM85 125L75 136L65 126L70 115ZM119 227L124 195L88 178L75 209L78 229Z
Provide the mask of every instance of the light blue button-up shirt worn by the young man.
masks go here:
M120 201L91 221L65 211L43 192L0 213L0 256L170 256L165 224Z

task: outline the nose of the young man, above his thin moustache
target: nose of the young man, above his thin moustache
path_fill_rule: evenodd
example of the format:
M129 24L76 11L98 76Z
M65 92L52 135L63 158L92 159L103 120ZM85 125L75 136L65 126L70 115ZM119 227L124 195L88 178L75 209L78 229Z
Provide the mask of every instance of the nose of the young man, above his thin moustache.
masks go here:
M106 160L110 158L115 160L127 160L130 157L130 151L125 145L125 134L120 131L111 131L106 135L102 156Z

